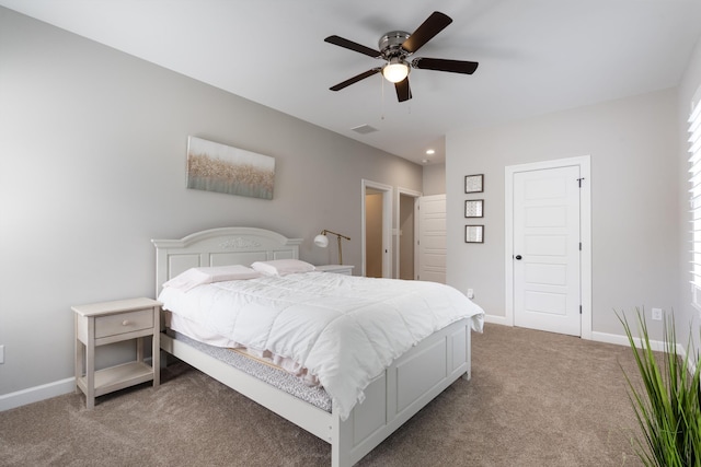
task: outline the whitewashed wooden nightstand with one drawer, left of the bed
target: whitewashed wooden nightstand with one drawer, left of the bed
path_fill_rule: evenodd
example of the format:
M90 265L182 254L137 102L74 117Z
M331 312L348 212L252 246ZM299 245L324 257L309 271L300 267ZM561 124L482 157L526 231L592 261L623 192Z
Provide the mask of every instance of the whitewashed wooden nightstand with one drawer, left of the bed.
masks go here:
M159 377L159 311L161 303L151 299L72 306L76 313L76 392L85 394L92 409L95 397ZM143 338L151 336L151 365L143 362ZM95 347L136 339L136 361L95 371ZM83 372L84 366L84 372Z

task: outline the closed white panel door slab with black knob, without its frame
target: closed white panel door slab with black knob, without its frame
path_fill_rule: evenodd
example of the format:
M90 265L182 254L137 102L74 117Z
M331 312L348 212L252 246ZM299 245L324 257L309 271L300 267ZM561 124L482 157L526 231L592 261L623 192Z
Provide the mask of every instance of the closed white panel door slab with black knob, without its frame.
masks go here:
M582 335L579 166L514 174L514 324Z

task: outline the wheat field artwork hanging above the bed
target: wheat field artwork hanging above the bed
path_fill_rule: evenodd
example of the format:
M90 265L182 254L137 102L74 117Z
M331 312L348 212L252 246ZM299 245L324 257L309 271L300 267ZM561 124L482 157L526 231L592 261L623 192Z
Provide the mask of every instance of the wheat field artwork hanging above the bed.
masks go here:
M273 199L275 157L187 138L187 188Z

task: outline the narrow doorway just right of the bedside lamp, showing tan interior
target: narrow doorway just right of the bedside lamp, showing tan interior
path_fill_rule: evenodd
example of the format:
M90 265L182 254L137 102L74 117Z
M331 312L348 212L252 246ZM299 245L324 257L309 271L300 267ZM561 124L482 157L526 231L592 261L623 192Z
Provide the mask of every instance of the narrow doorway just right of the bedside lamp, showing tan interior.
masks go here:
M363 276L392 277L392 187L363 180Z

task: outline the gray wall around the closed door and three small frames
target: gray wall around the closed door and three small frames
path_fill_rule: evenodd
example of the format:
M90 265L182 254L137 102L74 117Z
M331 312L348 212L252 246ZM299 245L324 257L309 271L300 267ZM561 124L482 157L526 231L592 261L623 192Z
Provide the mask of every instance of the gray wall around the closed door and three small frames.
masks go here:
M588 154L593 331L621 334L613 310L679 308L677 115L676 90L665 90L449 133L448 283L505 316L504 167ZM468 174L485 177L484 244L462 238Z

